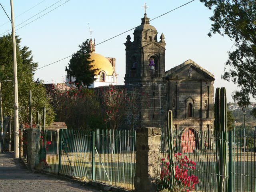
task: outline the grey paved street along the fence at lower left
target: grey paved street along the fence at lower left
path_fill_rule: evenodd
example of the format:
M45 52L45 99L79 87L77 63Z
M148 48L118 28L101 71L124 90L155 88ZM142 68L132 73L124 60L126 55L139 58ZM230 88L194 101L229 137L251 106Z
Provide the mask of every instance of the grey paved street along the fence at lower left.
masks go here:
M0 191L1 192L99 192L91 186L32 173L13 153L0 153Z

